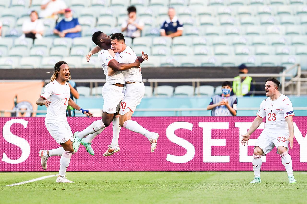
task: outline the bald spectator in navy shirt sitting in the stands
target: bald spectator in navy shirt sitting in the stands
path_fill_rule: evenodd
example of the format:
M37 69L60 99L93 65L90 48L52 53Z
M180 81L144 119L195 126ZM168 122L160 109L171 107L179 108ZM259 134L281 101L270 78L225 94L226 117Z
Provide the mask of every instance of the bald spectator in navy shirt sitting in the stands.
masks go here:
M161 36L177 37L182 36L183 26L175 16L176 12L174 8L169 8L169 19L163 22L160 34Z

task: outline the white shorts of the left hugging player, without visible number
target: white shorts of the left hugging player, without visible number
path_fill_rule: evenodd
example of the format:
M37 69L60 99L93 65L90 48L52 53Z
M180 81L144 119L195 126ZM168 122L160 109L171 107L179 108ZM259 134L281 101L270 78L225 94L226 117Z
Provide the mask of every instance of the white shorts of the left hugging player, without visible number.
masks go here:
M124 87L105 84L102 87L103 108L102 112L116 113L119 109L118 104L124 97ZM117 108L118 107L118 108Z

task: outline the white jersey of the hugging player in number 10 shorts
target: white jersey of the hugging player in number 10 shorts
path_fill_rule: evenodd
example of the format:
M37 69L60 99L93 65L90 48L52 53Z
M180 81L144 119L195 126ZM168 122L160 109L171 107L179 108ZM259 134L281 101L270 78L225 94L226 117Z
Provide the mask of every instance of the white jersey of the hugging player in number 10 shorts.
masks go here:
M137 56L135 55L134 51L131 49L131 47L127 46L124 51L121 53L115 54L115 59L119 63L133 63L137 59ZM142 82L142 74L141 74L141 68L131 68L129 70L122 71L122 74L124 75L125 81L130 82Z

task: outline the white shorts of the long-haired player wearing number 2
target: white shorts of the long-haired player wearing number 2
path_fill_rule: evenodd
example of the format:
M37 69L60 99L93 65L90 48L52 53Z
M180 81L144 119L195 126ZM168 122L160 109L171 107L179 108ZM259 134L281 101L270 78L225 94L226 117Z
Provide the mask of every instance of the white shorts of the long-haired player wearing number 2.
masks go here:
M74 141L72 129L67 120L54 121L55 123L45 123L47 130L58 144L65 143L68 140Z

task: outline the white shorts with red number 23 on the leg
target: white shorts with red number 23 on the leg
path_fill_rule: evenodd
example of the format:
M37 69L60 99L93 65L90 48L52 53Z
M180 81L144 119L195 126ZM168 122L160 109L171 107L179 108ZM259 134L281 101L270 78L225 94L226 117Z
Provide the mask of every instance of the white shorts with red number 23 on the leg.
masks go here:
M288 137L289 132L287 131L280 133L262 131L256 141L255 147L260 147L263 150L263 155L269 153L274 147L278 148L279 146L286 147L287 151L289 151L288 140L286 140Z

